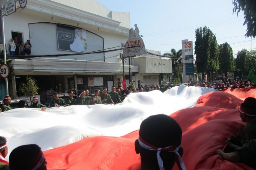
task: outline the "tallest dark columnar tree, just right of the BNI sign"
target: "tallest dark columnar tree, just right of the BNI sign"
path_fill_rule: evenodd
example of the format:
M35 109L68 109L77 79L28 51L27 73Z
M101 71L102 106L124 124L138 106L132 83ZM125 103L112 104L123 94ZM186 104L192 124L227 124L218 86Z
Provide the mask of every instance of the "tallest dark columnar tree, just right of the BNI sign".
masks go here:
M195 41L196 67L199 73L210 73L218 67L218 43L216 36L208 27L197 28Z

